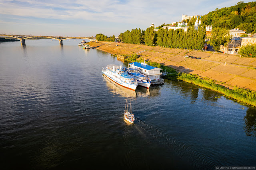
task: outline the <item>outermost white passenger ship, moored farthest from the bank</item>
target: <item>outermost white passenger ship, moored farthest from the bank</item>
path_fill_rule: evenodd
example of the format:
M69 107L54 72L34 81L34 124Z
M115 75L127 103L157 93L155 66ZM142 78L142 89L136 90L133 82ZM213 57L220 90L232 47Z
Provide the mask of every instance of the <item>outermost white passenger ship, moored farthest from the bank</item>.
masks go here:
M122 65L107 65L105 68L102 69L102 73L110 78L112 81L123 87L128 88L129 86L130 89L135 90L138 86L136 79L126 73L126 71L122 69Z

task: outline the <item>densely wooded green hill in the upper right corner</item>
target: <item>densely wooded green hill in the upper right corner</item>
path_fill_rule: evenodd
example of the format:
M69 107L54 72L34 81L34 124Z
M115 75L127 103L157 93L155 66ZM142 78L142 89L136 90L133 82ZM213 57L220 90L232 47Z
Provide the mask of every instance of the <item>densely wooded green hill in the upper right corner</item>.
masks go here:
M228 30L239 28L246 33L256 32L256 2L238 2L235 6L216 9L201 16L202 24Z

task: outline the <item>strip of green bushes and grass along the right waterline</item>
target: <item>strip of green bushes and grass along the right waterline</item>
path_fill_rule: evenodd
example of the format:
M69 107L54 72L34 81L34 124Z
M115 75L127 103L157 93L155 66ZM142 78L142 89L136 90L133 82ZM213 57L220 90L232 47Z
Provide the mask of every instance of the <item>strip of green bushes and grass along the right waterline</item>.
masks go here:
M236 99L239 102L246 103L248 105L256 106L256 92L248 89L235 88L234 90L227 89L221 85L215 84L212 80L204 80L197 75L191 75L182 73L177 75L178 80L186 81L188 83L193 83L199 85L200 87L205 87L226 95L226 97Z

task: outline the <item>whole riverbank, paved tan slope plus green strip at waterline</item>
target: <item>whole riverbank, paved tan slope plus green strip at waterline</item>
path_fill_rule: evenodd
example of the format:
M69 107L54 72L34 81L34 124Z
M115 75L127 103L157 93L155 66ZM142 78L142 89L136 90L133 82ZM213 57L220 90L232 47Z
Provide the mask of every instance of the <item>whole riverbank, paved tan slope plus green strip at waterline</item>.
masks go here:
M153 64L158 63L157 67L164 69L164 66L167 66L180 73L167 75L165 77L167 79L194 83L247 105L256 106L256 69L254 68L256 59L126 43L90 42L88 44L113 55L138 53L137 60L145 59ZM184 55L192 55L199 59L187 58ZM226 60L227 65L221 63L223 59Z

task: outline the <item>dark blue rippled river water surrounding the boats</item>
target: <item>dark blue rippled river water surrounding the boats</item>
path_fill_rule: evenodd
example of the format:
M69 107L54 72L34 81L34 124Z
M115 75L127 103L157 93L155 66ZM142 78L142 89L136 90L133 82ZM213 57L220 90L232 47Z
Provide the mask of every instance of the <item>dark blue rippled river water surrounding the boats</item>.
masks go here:
M81 40L0 44L4 169L214 169L256 165L256 109L185 82L130 91L102 75L127 66ZM2 169L1 168L1 169Z

